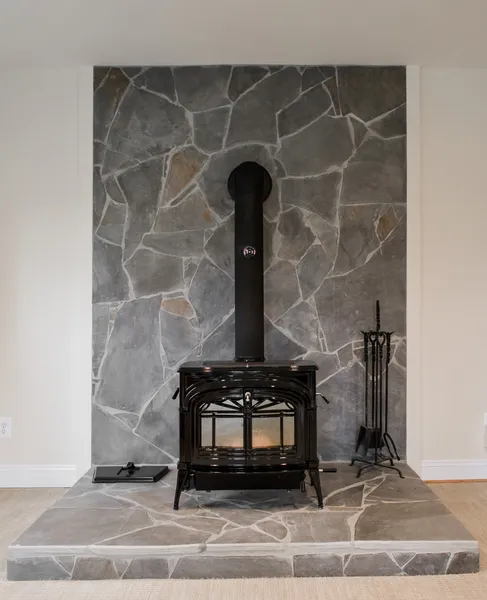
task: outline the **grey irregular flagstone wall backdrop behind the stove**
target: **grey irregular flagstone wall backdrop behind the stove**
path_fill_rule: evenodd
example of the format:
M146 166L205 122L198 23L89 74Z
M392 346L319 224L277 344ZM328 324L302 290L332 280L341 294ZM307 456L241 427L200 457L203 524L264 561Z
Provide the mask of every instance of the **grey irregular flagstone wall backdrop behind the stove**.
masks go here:
M93 462L172 462L178 366L233 358L226 181L244 160L274 183L267 358L318 363L319 452L348 458L379 299L404 453L405 69L96 68L94 90Z

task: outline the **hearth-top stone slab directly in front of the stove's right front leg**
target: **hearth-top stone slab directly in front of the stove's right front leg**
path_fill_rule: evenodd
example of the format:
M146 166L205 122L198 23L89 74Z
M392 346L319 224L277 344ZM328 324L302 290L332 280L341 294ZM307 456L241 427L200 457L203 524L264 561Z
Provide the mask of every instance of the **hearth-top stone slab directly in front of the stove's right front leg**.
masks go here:
M350 529L347 519L353 512L286 512L282 521L288 528L291 541L302 542L348 542Z

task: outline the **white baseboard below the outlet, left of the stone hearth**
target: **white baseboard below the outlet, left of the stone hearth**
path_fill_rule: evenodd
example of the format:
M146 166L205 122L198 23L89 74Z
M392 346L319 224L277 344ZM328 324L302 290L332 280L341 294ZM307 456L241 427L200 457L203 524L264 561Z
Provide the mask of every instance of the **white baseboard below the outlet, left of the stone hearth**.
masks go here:
M76 465L0 465L0 488L71 487Z

